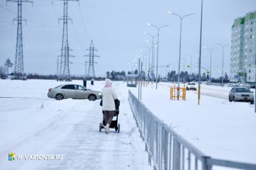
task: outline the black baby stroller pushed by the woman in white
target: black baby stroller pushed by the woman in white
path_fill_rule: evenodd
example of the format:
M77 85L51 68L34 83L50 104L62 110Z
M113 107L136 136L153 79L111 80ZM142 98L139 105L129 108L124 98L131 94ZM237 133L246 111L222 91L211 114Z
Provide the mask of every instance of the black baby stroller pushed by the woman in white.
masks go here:
M115 131L117 133L120 132L120 124L118 123L119 105L120 105L120 100L116 99L115 100L116 114L114 115L114 117L116 117L116 120L112 120L111 125L109 125L109 128L115 128ZM100 101L100 106L102 106L102 100ZM103 111L102 111L102 114L103 114L103 120L102 120L102 123L100 123L99 125L99 132L101 132L101 129L104 128L103 125L106 126L105 116Z

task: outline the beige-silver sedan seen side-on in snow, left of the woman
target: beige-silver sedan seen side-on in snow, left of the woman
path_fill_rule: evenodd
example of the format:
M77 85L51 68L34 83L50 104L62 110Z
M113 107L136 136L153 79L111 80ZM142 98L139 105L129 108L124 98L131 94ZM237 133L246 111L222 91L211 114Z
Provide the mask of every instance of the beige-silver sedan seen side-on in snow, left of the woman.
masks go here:
M77 84L62 84L56 88L49 89L47 96L49 98L55 98L56 100L74 98L94 101L102 98L102 93L100 91L84 88L84 86Z

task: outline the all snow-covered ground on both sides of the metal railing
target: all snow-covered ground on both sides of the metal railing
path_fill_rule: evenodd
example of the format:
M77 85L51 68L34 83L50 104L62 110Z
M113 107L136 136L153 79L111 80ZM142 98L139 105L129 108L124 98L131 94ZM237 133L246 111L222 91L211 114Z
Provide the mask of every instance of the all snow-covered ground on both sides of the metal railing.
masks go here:
M120 134L99 133L99 100L47 98L65 82L0 80L0 169L152 169L129 107L125 82L114 86L121 100ZM73 83L82 84L82 81ZM88 86L100 90L104 82ZM196 148L214 158L256 163L254 105L228 102L228 87L202 85L187 100L171 101L170 84L143 87L142 102ZM214 96L214 97L213 97ZM8 153L62 154L62 160L8 161Z

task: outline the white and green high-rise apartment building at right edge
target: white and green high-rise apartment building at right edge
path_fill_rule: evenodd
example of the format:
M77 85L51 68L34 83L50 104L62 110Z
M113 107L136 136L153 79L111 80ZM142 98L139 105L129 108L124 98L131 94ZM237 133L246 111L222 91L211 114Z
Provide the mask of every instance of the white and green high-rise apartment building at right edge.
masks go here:
M230 56L230 81L255 82L256 12L234 20Z

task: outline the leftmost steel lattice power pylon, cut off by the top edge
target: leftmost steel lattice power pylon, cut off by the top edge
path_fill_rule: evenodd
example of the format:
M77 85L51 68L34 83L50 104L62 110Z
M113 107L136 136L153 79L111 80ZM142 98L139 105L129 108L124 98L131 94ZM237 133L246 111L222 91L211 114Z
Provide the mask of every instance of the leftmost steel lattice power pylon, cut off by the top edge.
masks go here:
M17 3L18 14L13 20L17 21L17 38L16 38L16 52L15 52L15 63L14 63L14 74L16 76L24 75L24 56L23 56L23 41L22 41L22 21L26 21L22 18L22 3L33 3L29 0L6 0L6 3Z

